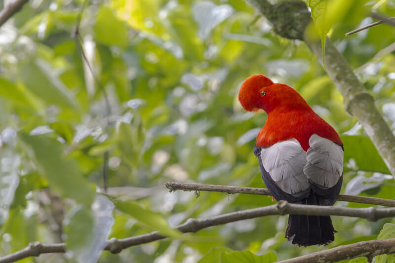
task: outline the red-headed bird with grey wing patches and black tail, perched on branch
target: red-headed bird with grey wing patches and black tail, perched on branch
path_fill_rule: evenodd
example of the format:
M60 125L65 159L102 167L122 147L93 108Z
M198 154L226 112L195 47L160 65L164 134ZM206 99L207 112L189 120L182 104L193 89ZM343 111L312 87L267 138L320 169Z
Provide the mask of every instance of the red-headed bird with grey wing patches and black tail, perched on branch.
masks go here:
M288 85L252 75L241 85L244 110L268 113L254 154L266 187L276 200L333 205L343 182L343 143L337 132ZM328 216L289 215L285 237L299 246L334 240Z

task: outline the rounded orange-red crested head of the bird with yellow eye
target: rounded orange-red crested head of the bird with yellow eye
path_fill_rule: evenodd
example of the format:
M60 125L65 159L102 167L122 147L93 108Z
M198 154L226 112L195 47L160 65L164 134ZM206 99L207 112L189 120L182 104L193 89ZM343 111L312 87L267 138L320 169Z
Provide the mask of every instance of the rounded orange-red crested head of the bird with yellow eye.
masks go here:
M244 110L256 112L263 109L270 113L275 108L311 109L300 94L288 85L273 83L264 75L252 75L244 80L238 92Z

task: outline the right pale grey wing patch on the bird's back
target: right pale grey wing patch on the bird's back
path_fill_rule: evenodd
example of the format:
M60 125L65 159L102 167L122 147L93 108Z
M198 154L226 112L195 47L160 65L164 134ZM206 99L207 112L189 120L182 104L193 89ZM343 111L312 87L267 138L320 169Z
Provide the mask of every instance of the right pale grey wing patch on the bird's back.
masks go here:
M343 174L343 150L340 145L313 134L306 152L303 172L321 188L331 188Z

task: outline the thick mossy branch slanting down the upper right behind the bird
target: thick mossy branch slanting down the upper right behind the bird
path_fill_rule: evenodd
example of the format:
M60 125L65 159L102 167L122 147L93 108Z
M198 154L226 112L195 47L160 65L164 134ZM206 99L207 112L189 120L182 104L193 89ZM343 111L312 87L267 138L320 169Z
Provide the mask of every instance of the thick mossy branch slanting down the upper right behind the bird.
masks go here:
M279 36L305 40L317 58L322 60L319 38L310 39L304 35L306 26L311 21L310 12L304 2L285 0L272 5L268 0L248 1L270 20ZM385 19L381 20L387 23ZM394 22L393 20L389 21ZM388 23L390 23L389 21ZM362 125L391 174L395 177L395 136L374 105L372 95L365 90L330 39L326 40L325 45L325 65L327 74L343 95L345 108Z

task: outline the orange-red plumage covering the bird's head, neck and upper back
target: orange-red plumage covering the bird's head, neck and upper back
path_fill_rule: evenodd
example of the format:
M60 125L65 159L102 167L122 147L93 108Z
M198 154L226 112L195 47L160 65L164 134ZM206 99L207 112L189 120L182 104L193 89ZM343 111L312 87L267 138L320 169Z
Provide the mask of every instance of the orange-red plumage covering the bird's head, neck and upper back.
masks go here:
M337 132L288 85L273 83L264 75L252 75L241 85L238 99L246 111L263 109L268 113L268 119L257 136L256 147L267 148L295 138L303 150L307 150L313 134L343 145Z

